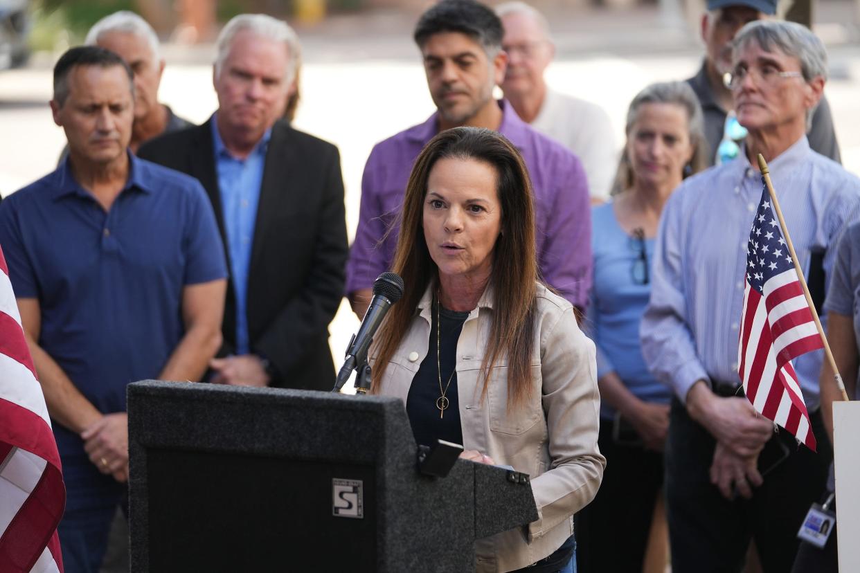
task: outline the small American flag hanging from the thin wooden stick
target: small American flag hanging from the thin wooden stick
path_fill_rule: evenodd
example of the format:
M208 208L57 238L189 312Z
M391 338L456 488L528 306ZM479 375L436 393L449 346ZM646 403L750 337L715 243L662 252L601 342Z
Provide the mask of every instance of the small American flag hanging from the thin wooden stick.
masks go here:
M738 374L746 398L814 451L815 436L791 360L823 345L766 186L746 249L740 323Z

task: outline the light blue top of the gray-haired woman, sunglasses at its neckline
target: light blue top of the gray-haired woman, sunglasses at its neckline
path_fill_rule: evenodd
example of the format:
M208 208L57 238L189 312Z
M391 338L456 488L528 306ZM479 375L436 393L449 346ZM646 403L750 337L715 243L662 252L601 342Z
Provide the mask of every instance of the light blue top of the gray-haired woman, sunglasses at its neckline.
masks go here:
M672 394L648 371L642 359L639 322L648 305L651 283L645 277L640 251L645 248L648 277L654 260L654 239L643 245L618 225L611 203L592 210L593 288L588 302L587 332L597 346L598 379L615 372L638 399L668 404ZM634 276L636 275L636 277ZM615 409L600 400L600 417Z

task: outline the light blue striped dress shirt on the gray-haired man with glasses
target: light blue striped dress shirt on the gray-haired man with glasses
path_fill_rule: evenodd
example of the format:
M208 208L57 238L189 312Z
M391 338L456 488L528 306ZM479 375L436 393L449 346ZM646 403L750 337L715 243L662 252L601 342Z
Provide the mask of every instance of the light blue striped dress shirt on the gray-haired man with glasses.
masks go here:
M768 165L804 274L824 253L829 281L836 242L860 206L860 180L809 148L804 136ZM663 211L651 300L642 319L642 355L682 402L698 380L740 385L738 340L746 242L761 198L759 171L746 150L733 162L691 177ZM794 364L810 410L818 405L822 351Z

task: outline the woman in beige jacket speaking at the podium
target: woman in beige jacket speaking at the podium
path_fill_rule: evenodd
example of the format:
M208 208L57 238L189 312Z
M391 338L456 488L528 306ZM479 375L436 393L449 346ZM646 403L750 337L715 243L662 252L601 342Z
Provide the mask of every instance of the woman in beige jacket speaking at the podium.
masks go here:
M420 444L531 475L539 519L476 544L479 571L572 570L573 515L600 485L594 344L537 277L531 182L494 131L439 133L415 161L394 268L403 298L372 349L372 393ZM563 237L556 237L563 240Z

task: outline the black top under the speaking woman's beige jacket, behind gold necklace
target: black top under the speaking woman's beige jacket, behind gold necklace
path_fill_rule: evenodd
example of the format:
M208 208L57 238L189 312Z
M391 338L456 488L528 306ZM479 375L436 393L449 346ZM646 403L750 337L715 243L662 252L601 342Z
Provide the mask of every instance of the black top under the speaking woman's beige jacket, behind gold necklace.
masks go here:
M439 346L439 363L442 366L442 387L448 383L451 376L451 384L445 392L448 399L448 407L442 418L439 418L439 408L436 401L439 399L439 371L436 362L436 304L433 304L433 322L430 325L430 342L427 346L427 357L421 362L412 386L409 387L409 395L406 399L406 413L409 423L412 424L412 433L415 442L423 446L433 446L436 440L445 440L457 444L463 443L463 429L460 427L460 410L457 399L457 342L460 332L463 331L463 323L469 313L458 313L442 307L439 310L439 318L442 321L440 334L442 338Z

